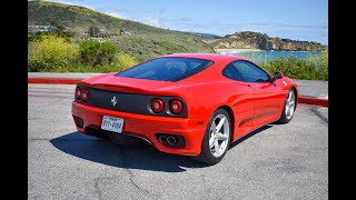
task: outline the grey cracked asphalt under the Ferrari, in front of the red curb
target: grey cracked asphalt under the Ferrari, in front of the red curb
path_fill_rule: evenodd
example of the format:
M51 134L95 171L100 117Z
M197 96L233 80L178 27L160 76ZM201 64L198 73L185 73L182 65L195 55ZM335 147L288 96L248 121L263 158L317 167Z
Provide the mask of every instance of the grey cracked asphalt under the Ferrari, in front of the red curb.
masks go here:
M327 109L300 104L288 124L234 143L211 167L82 136L75 86L28 86L29 199L328 199Z

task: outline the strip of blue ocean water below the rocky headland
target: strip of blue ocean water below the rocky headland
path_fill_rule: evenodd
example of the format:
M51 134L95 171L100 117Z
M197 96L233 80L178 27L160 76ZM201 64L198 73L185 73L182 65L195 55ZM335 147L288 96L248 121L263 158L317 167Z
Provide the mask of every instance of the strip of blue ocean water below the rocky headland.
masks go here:
M221 54L234 54L251 59L255 62L265 62L275 60L279 57L297 59L309 59L314 56L320 56L322 51L249 51L249 52L221 52Z

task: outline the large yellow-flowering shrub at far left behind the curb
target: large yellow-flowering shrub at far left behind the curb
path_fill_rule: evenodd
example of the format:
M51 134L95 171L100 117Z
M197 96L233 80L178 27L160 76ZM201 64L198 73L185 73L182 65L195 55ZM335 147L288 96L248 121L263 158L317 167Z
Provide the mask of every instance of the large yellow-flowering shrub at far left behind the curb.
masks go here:
M51 71L66 68L75 62L78 49L66 39L53 36L42 37L29 43L28 70Z

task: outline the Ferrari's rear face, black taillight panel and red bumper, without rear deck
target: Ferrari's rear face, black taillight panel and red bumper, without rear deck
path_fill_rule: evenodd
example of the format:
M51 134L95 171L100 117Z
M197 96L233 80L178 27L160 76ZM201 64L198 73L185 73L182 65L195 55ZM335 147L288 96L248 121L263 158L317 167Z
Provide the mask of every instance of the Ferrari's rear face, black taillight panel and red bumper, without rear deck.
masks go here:
M90 136L130 134L158 150L198 154L205 119L189 119L184 99L109 91L78 84L72 102L77 129Z

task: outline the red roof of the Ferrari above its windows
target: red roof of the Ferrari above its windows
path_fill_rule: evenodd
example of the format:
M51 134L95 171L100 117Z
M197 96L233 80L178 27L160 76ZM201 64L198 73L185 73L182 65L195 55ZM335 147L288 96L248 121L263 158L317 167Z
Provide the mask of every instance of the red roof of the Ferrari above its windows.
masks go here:
M230 54L218 54L218 53L175 53L175 54L167 54L162 56L164 58L167 57L175 57L175 58L196 58L196 59L205 59L211 61L234 61L234 60L246 60L241 57L230 56Z

